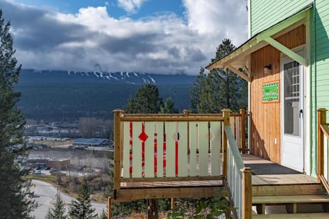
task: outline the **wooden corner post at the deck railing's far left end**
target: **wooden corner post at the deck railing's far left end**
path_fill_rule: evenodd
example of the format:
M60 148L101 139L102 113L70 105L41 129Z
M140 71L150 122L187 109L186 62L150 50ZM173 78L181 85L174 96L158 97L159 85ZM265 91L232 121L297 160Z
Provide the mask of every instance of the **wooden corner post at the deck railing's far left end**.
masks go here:
M113 189L114 199L117 198L117 189L120 189L121 178L121 150L122 150L122 123L121 115L123 111L116 109L114 113L114 174L113 174Z

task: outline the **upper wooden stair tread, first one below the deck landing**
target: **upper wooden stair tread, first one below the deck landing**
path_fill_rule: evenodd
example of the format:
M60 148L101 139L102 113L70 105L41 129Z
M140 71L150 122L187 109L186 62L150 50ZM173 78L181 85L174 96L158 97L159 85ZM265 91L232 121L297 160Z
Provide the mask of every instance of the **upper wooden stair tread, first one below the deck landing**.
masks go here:
M329 203L326 195L252 196L253 204Z

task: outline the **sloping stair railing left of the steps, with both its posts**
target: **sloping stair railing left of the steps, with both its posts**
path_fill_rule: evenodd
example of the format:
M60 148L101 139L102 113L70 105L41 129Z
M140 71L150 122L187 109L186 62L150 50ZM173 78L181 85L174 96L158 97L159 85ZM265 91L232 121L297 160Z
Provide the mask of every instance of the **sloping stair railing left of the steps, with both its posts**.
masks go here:
M224 110L224 130L225 135L223 143L223 161L227 159L227 176L228 191L231 196L232 205L236 213L235 218L251 219L252 218L252 170L245 168L243 159L239 152L232 129L228 125L230 111ZM227 141L226 141L227 139ZM225 153L227 151L227 153ZM226 158L227 157L227 158Z

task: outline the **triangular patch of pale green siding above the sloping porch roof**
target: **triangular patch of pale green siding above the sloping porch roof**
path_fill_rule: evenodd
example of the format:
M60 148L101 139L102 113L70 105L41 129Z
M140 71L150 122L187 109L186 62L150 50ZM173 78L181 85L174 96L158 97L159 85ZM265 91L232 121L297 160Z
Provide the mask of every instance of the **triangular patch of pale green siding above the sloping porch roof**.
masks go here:
M255 34L302 10L311 0L250 0L251 33Z

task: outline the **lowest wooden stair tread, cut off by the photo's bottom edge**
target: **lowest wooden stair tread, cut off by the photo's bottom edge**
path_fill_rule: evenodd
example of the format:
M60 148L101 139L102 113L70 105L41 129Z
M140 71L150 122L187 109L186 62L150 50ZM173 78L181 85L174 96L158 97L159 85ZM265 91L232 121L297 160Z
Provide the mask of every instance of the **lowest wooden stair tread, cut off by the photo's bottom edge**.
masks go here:
M314 214L253 214L253 219L328 219L329 213Z

